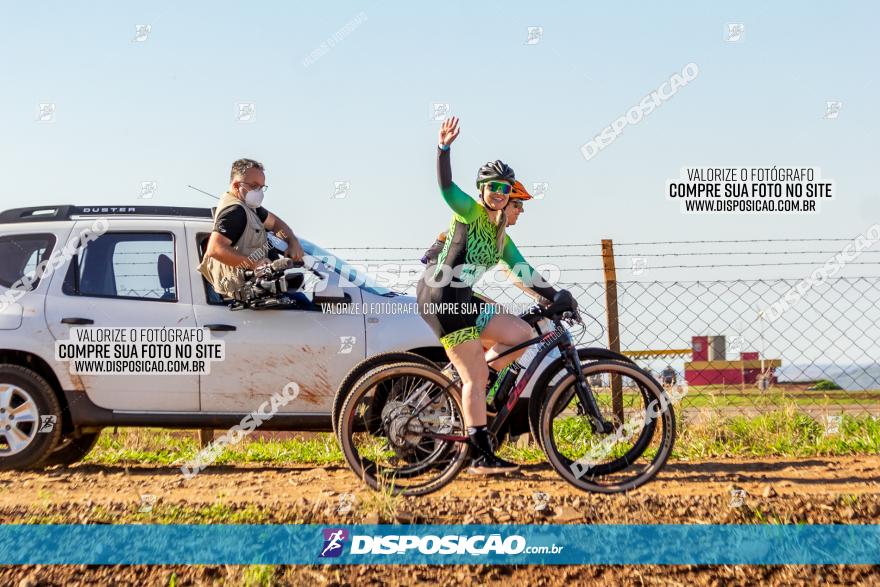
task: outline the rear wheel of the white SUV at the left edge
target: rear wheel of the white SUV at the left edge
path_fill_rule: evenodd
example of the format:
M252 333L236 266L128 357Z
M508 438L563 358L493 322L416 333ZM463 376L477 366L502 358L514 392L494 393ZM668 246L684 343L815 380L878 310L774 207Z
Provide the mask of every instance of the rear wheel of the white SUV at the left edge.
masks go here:
M46 416L54 423L40 431ZM0 364L0 470L41 466L60 438L61 406L52 386L30 369Z

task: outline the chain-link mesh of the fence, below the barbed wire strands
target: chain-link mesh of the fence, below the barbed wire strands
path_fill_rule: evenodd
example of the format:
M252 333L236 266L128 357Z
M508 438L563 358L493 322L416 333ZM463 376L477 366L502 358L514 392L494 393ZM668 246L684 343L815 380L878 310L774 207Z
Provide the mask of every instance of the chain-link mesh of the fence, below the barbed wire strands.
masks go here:
M794 279L617 282L620 348L658 379L687 381L685 410L880 413L880 278L839 278L783 312ZM607 320L605 284L576 284ZM607 343L606 341L602 341Z

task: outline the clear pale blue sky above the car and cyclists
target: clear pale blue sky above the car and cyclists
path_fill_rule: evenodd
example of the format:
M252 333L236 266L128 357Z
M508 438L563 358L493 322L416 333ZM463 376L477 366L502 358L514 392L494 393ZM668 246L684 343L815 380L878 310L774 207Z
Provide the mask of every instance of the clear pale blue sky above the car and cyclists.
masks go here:
M880 219L877 22L870 2L7 3L2 207L144 203L143 181L152 203L207 206L186 185L220 193L249 156L267 166L266 206L306 237L427 245L449 218L429 116L442 102L462 120L462 186L496 158L549 184L512 229L520 244L852 237ZM584 159L689 62L697 79ZM52 123L35 120L44 102ZM814 216L686 216L663 192L687 165L820 167L837 194Z

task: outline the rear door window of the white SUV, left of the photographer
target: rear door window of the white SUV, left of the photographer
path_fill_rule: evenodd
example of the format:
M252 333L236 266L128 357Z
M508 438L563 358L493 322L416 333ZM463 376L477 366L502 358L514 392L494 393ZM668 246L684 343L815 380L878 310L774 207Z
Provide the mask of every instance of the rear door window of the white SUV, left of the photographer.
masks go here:
M176 284L171 234L110 232L90 242L74 259L64 293L176 302Z

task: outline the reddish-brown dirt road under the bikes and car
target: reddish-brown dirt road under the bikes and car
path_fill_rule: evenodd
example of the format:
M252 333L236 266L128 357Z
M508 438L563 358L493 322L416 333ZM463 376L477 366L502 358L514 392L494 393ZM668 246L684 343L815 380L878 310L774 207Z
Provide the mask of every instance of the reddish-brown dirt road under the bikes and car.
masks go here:
M80 465L0 473L0 522L38 523L880 523L880 456L672 462L640 491L584 494L545 465L508 478L461 475L419 498L362 487L345 468L178 469ZM745 494L731 493L742 489ZM545 497L546 495L546 497ZM0 568L0 585L265 582L239 567ZM357 567L260 570L280 584L857 584L868 567ZM112 574L111 573L115 573ZM111 581L112 577L112 581ZM33 582L29 582L33 581Z

